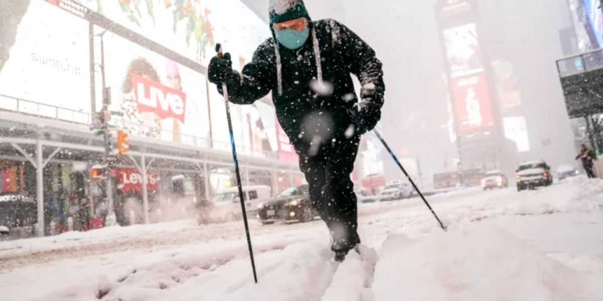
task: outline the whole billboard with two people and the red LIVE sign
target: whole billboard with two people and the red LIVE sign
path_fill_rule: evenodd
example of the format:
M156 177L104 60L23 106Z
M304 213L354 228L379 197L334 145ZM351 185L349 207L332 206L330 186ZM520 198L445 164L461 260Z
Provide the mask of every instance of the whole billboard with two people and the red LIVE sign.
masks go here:
M112 33L104 36L114 125L130 135L209 146L205 76Z

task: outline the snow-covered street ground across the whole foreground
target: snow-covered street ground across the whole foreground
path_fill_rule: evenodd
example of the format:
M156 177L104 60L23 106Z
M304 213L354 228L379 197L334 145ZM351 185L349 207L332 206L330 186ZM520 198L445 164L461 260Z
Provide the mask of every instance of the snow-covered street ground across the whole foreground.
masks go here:
M603 181L361 206L333 264L326 227L251 221L101 229L0 243L0 300L603 300Z

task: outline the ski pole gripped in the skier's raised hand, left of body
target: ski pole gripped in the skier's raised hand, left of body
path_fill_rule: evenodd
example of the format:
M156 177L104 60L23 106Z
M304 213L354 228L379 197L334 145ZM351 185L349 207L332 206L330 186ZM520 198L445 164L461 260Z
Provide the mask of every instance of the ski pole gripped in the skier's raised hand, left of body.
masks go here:
M216 44L216 52L218 57L223 57L222 46ZM241 172L239 171L239 159L236 155L235 135L232 130L232 119L230 118L230 105L226 82L222 84L222 92L224 93L224 103L226 104L226 119L228 120L228 129L230 132L230 146L232 146L232 158L235 161L236 184L239 187L239 199L241 199L241 211L243 213L243 222L245 224L245 235L247 235L247 246L249 247L249 257L251 258L251 269L253 270L253 280L257 283L256 262L253 259L253 247L251 246L251 236L249 235L249 224L247 223L247 211L245 211L245 200L243 199L243 187L241 185Z

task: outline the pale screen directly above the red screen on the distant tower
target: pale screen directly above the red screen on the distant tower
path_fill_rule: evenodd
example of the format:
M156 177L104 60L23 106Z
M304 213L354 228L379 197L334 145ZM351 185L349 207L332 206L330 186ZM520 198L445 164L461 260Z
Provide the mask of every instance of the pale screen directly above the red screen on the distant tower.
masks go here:
M444 44L452 78L484 71L475 23L444 30Z

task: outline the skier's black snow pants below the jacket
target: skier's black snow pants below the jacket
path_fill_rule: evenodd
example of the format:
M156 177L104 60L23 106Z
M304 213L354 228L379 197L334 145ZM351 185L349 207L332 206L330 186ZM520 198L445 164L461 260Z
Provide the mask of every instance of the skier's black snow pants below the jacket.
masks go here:
M347 252L360 243L358 199L350 179L359 141L359 137L352 137L328 143L314 155L296 147L300 169L309 184L312 207L329 228L333 252Z

